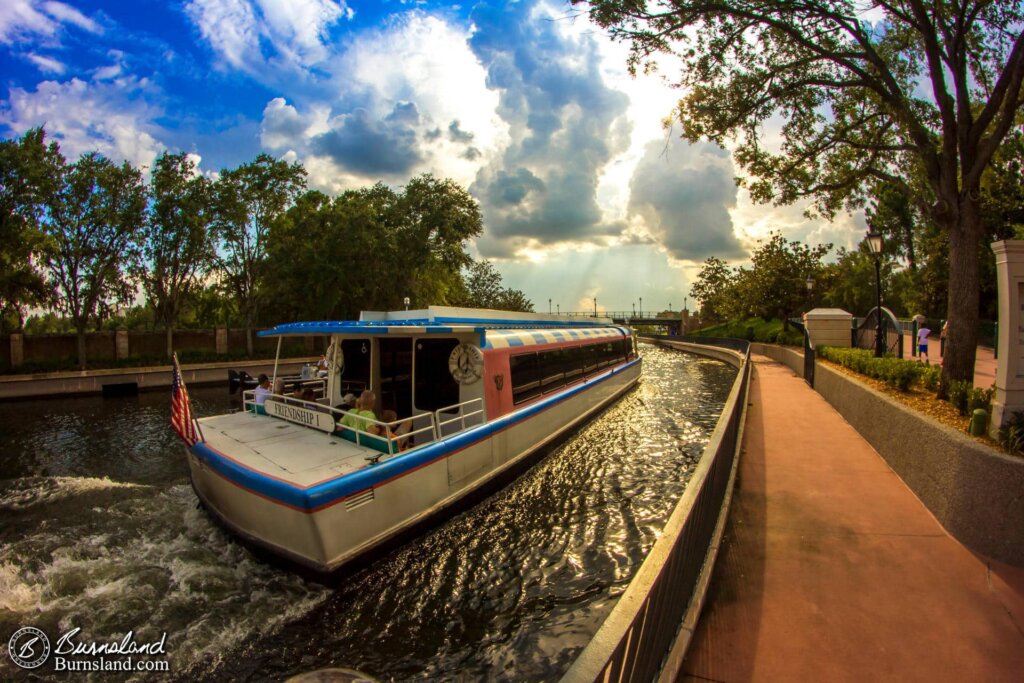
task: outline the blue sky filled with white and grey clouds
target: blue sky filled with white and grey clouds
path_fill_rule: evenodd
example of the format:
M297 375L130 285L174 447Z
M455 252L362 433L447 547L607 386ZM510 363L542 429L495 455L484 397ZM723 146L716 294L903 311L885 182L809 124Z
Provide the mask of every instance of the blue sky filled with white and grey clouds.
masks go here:
M671 68L632 78L627 51L540 0L3 0L0 136L211 176L265 152L328 194L450 177L483 214L473 255L539 311L692 308L703 260L770 230L859 241L861 216L753 205L727 150L664 126Z

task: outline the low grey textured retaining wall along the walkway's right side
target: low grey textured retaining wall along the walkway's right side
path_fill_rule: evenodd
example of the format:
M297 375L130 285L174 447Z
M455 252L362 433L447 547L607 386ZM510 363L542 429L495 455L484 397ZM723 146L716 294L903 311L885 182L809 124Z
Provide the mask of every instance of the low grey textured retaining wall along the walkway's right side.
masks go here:
M803 354L768 344L752 353L803 375ZM1012 458L935 422L822 364L814 388L885 458L961 543L1024 566L1024 458Z

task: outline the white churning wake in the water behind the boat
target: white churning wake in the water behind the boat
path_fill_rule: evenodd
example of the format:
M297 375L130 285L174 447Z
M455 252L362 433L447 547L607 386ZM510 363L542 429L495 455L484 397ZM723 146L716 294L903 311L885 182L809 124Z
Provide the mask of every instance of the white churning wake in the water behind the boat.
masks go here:
M80 627L81 640L115 641L134 631L147 642L166 632L172 675L201 678L238 644L272 634L328 595L230 541L197 508L187 484L75 477L5 483L5 633L35 626L52 641ZM10 666L4 657L0 678Z

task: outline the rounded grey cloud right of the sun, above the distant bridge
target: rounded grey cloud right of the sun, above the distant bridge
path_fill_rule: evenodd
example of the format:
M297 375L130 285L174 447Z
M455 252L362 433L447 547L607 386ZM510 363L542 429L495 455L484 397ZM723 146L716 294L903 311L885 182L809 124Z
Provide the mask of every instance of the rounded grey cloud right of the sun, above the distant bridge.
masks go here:
M729 216L736 205L733 175L728 153L717 145L674 141L667 150L655 140L633 173L629 211L677 259L744 258Z

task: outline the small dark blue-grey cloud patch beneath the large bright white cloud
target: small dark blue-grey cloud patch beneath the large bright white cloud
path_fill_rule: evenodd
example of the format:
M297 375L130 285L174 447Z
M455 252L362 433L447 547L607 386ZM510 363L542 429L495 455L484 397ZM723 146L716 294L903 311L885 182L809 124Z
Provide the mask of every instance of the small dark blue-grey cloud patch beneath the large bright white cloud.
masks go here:
M310 150L362 175L412 173L422 161L416 151L416 132L404 123L414 113L418 119L415 104L398 104L381 121L366 110L355 110L312 138Z

